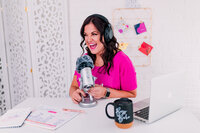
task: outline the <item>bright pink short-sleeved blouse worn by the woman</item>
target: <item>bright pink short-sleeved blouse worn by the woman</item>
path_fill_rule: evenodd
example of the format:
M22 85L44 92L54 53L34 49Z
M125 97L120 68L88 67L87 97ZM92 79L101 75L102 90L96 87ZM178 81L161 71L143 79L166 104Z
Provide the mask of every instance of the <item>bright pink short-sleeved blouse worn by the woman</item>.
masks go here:
M97 78L95 84L103 84L104 87L124 91L132 91L137 88L135 68L123 51L119 51L114 56L113 67L109 71L110 75L107 72L101 72L101 69L101 73L99 73L99 68L98 66L94 66L92 69L92 75ZM80 86L79 78L81 75L77 71L75 71L74 75L77 76L77 82Z

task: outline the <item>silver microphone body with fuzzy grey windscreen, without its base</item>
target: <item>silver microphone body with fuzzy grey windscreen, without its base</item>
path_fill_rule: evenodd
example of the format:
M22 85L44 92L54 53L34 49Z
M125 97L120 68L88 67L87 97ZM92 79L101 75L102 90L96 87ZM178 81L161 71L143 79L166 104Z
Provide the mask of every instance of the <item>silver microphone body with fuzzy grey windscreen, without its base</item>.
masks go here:
M76 71L81 74L79 79L81 88L87 92L95 85L95 78L92 76L91 69L94 68L93 60L89 55L81 56L76 61Z

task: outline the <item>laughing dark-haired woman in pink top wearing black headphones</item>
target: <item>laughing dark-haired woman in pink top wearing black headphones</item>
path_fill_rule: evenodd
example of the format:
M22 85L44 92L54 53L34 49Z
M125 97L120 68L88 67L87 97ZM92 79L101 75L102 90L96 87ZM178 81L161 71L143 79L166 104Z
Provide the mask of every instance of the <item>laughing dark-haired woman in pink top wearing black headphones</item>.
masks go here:
M100 14L90 15L83 22L80 33L83 54L86 49L86 54L94 62L92 75L97 78L89 94L95 99L136 97L135 68L129 57L119 49L108 19ZM86 95L79 89L79 78L80 74L75 71L69 92L74 103L82 100L80 95Z

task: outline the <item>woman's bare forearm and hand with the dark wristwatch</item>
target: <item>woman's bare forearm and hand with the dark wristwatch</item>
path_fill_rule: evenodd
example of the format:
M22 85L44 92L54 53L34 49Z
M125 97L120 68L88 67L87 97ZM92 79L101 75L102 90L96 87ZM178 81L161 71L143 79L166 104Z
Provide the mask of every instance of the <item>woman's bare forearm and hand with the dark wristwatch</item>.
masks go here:
M122 97L135 98L137 95L137 89L134 89L132 91L116 90L112 88L109 88L109 89L110 89L109 98L122 98ZM96 84L95 87L90 89L89 94L92 95L96 99L103 98L106 95L106 87Z

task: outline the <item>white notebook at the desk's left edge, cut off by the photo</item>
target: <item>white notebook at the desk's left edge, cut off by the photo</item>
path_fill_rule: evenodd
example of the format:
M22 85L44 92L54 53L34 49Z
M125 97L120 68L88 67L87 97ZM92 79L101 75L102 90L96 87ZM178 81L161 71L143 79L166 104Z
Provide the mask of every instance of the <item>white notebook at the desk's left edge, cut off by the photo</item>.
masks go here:
M16 128L24 124L31 108L10 109L0 117L0 128Z

